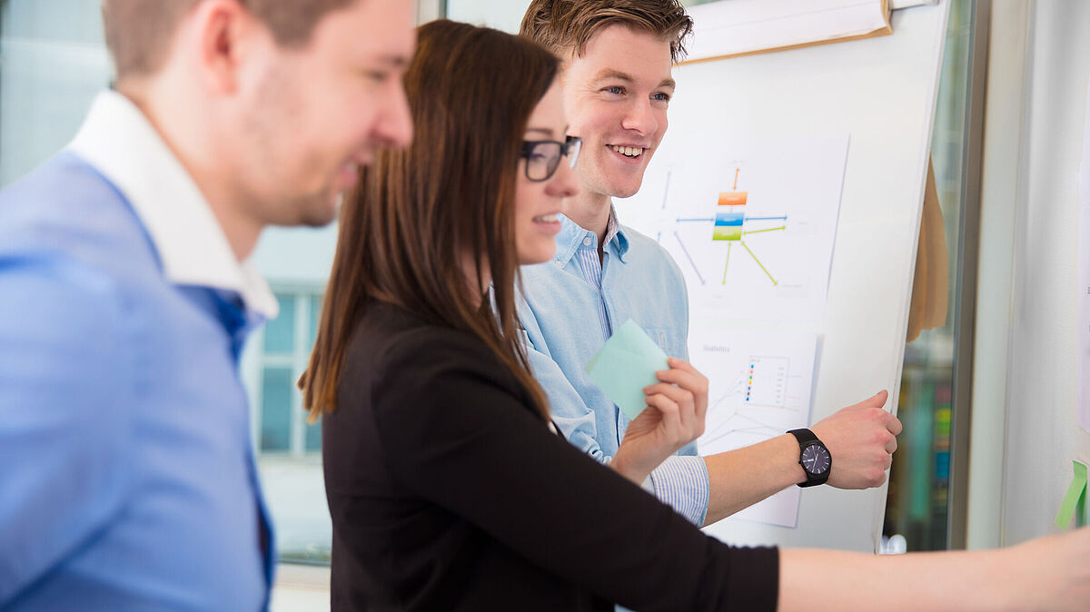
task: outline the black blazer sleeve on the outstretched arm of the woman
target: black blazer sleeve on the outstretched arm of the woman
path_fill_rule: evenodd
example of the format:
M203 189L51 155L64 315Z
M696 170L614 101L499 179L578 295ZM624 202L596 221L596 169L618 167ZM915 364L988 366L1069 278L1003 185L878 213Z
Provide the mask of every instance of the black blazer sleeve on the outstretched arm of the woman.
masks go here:
M555 575L639 610L774 610L775 549L727 547L548 431L483 345L415 333L374 379L392 473Z

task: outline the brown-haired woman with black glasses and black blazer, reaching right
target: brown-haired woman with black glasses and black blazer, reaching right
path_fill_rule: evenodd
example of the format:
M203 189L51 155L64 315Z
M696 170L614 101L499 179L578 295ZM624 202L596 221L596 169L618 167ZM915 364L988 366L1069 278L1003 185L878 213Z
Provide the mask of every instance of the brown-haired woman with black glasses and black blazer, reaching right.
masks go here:
M731 548L556 433L514 322L518 266L553 257L577 189L556 71L526 40L422 26L414 144L342 206L301 381L323 417L332 608L1086 610L1088 529L886 558ZM671 366L682 384L645 390L657 409L614 462L650 472L699 434L699 375Z

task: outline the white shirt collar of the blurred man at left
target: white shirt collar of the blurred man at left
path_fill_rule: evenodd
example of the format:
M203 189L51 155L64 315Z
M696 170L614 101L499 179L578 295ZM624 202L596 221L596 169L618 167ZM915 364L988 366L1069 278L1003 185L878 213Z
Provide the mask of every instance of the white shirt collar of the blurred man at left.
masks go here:
M237 292L246 308L276 317L268 283L253 261L235 259L201 189L129 98L100 93L68 148L129 199L152 236L167 280Z

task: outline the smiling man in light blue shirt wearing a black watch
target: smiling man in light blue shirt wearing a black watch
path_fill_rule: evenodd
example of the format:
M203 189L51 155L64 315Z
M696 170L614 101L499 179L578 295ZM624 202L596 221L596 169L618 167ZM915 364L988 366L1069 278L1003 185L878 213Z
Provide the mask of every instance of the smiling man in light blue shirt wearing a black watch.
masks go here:
M583 138L583 149L576 169L580 193L565 203L556 257L523 268L520 321L554 419L572 443L604 463L628 427L583 370L605 339L631 318L668 355L687 356L681 272L655 241L617 221L611 198L640 188L666 132L670 69L691 27L676 0L534 0L522 22L523 35L564 61L569 131ZM829 485L884 482L900 432L896 417L882 409L886 396L882 391L811 427L834 457ZM705 457L689 445L642 485L706 525L807 482L799 461L800 441L788 433Z

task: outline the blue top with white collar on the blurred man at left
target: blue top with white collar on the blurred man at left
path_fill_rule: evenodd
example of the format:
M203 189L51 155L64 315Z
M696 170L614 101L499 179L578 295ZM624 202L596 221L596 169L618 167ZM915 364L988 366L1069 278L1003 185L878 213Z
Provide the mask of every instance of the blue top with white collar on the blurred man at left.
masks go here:
M238 357L271 295L201 281L245 273L128 100L73 145L0 193L0 609L264 609Z

